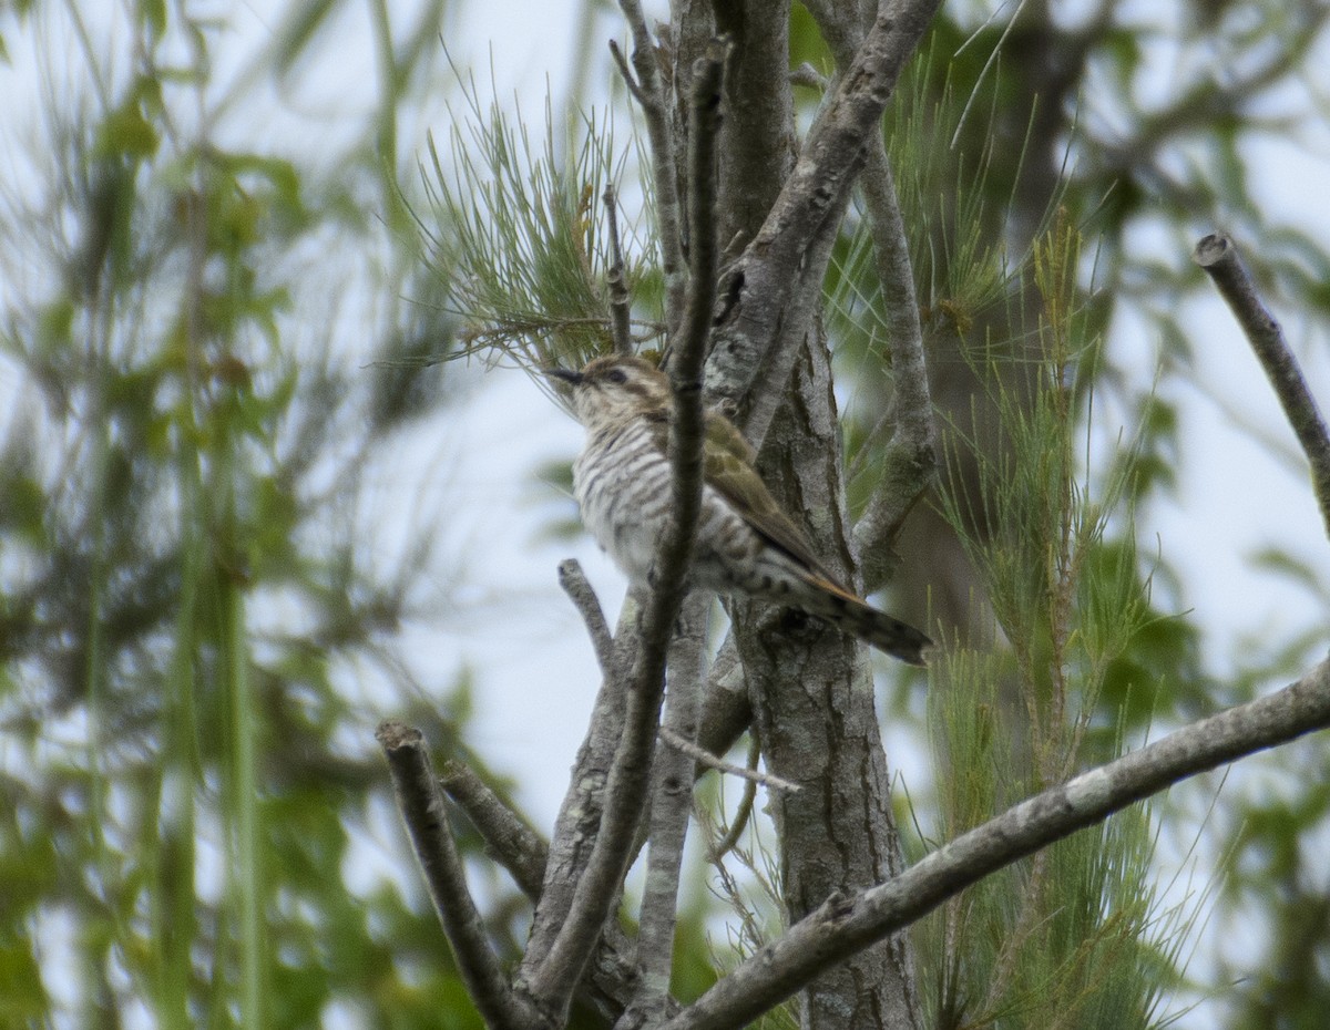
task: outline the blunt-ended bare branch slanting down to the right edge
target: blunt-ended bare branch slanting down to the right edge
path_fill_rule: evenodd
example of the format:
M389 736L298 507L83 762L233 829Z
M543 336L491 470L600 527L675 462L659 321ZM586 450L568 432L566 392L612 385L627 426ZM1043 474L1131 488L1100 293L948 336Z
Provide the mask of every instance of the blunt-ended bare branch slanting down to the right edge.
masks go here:
M1326 432L1315 397L1307 389L1298 359L1289 350L1279 323L1261 302L1256 283L1232 239L1221 234L1205 237L1196 245L1192 257L1214 282L1220 296L1228 302L1265 368L1298 444L1311 464L1311 485L1321 506L1321 518L1330 533L1330 433Z

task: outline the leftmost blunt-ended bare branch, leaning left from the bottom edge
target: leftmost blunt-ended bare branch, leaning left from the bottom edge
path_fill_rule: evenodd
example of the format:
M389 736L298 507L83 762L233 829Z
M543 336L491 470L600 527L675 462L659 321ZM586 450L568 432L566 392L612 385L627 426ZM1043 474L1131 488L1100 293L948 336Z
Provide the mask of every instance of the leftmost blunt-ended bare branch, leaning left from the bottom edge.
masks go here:
M423 735L414 727L386 722L379 726L375 739L388 760L398 809L452 946L458 972L481 1018L491 1027L543 1026L540 1013L513 991L489 948L484 921L467 889L462 857L448 831L443 793Z

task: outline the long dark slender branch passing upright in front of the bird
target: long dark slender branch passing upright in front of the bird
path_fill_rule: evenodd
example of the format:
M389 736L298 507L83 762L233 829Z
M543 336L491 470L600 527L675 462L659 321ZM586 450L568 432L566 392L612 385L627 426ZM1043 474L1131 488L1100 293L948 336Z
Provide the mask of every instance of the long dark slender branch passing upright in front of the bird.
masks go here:
M626 5L626 4L625 4ZM692 275L684 324L674 340L672 379L674 417L670 420L672 514L654 564L653 587L646 595L637 661L624 734L614 754L605 789L600 833L587 869L577 882L568 916L528 979L532 994L549 1011L567 1011L573 989L600 937L632 853L637 816L646 796L652 750L665 687L665 657L674 618L686 593L697 518L702 500L701 364L716 299L716 241L704 239L714 205L714 142L720 120L720 90L725 48L717 43L698 62L692 101L690 207L693 229ZM638 69L641 73L641 69ZM528 957L531 949L528 949Z

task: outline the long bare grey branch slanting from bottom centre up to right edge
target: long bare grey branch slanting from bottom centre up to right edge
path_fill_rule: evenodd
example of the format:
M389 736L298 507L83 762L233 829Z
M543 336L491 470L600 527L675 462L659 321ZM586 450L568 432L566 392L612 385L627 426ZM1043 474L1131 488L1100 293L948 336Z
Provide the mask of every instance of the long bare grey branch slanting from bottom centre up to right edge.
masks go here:
M960 890L1077 829L1234 759L1330 727L1330 662L1275 694L1192 723L963 833L900 876L838 894L688 1006L665 1030L728 1030Z

